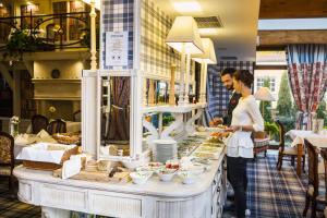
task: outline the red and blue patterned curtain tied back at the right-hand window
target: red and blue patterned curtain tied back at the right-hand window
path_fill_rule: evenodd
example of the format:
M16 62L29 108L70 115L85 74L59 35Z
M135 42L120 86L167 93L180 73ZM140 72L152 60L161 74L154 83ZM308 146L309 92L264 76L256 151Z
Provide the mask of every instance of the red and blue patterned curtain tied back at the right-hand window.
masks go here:
M296 129L312 129L312 118L327 86L327 45L289 45L290 86L299 108Z

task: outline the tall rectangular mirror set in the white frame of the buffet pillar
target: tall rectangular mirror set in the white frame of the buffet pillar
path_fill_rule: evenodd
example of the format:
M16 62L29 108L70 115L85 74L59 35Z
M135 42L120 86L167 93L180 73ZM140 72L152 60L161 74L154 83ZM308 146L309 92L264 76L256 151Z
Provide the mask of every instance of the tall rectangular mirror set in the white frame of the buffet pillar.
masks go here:
M100 155L130 156L131 77L101 77Z

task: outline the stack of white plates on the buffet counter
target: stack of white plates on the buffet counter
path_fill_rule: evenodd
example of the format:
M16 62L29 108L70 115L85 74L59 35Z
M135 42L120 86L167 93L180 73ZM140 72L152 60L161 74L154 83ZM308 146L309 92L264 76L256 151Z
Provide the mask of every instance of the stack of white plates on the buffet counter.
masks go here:
M166 162L167 160L178 159L177 142L173 140L153 141L153 160Z

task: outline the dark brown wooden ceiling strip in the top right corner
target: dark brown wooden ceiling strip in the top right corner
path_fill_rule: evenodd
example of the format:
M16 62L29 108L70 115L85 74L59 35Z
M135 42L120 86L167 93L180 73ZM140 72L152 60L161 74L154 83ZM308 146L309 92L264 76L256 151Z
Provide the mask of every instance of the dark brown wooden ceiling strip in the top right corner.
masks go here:
M261 0L259 19L327 17L327 0Z

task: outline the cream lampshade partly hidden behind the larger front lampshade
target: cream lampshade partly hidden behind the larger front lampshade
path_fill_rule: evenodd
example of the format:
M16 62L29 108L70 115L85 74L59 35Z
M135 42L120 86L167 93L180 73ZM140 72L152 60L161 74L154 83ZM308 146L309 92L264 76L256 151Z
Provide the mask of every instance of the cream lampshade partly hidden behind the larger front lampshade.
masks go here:
M209 38L202 38L202 45L203 45L204 53L193 55L192 59L199 63L202 63L202 62L205 62L207 64L217 63L216 52L215 52L215 47L214 47L213 40Z

